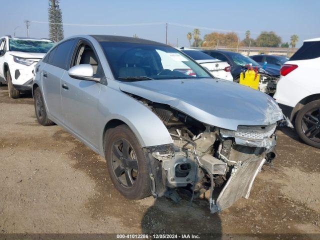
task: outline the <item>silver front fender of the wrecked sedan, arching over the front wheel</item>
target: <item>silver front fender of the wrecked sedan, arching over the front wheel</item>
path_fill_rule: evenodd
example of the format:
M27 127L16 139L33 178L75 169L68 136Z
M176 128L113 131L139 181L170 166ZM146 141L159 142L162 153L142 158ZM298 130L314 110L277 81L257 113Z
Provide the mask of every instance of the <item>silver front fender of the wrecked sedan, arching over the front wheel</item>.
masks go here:
M142 147L173 143L163 122L143 103L120 90L103 85L98 108L100 152L103 152L103 129L113 119L125 122Z

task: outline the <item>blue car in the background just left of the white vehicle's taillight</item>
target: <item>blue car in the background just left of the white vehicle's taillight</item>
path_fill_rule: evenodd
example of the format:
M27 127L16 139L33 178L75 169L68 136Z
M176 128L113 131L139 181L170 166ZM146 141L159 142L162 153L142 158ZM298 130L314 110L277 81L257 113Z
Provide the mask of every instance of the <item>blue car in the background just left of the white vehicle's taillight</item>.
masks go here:
M279 71L278 75L280 75L280 68L289 58L283 55L266 55L266 54L258 54L250 56L253 60L255 60L262 67L274 68Z

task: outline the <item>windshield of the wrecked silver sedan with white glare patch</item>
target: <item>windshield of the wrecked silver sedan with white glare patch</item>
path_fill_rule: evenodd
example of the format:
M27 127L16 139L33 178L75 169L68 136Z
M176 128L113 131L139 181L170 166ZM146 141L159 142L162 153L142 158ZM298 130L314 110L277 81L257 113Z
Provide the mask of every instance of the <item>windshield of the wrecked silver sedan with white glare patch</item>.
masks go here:
M210 77L201 66L173 47L132 42L100 42L118 80Z

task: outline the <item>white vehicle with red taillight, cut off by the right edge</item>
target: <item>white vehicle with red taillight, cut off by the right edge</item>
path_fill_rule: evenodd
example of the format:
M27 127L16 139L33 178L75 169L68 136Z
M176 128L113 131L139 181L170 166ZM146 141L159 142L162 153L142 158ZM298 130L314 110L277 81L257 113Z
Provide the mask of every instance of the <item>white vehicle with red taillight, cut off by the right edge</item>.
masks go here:
M280 74L273 97L299 137L320 148L320 37L304 40Z

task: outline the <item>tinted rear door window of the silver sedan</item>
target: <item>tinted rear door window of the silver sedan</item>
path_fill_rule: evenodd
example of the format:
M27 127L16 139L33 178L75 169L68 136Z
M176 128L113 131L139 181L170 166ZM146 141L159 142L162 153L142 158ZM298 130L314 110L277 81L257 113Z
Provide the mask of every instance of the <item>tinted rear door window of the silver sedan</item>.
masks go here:
M51 61L51 54L53 53L53 50L50 52L49 56L49 62L50 64L67 69L68 68L68 62L70 59L70 53L73 51L73 47L75 44L75 39L67 40L59 44L55 49L53 59Z

